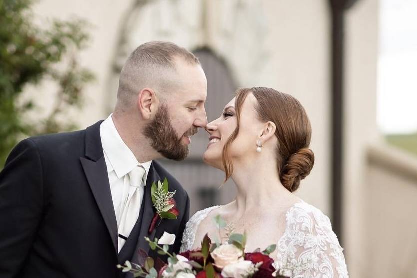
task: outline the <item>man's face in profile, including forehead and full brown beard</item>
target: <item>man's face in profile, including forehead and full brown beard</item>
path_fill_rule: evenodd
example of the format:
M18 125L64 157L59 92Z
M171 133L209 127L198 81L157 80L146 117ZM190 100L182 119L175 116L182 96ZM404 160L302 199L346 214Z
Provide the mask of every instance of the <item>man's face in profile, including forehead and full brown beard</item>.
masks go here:
M200 65L179 60L176 70L175 85L146 126L145 135L156 151L168 159L179 161L188 155L191 136L207 124L204 108L207 80Z

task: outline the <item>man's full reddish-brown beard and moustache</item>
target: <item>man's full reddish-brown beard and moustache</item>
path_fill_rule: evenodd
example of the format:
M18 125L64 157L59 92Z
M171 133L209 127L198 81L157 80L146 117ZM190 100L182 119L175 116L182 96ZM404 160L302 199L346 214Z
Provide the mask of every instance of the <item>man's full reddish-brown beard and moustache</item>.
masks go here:
M197 128L190 128L184 136L192 136L197 133ZM145 127L144 135L150 139L151 146L165 158L180 161L188 156L188 145L182 145L181 139L171 125L168 108L161 105L155 114L155 118Z

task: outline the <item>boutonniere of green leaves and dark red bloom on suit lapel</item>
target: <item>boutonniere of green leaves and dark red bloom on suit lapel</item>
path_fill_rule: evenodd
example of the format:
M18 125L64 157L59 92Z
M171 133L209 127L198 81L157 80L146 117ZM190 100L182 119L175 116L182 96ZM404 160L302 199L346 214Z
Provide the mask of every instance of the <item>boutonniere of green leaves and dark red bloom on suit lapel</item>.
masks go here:
M172 198L175 192L168 191L168 180L165 178L164 182L158 180L158 183L153 182L151 187L151 197L153 207L155 207L155 215L152 218L148 233L151 234L156 223L160 219L177 219L179 211L177 209L175 200Z

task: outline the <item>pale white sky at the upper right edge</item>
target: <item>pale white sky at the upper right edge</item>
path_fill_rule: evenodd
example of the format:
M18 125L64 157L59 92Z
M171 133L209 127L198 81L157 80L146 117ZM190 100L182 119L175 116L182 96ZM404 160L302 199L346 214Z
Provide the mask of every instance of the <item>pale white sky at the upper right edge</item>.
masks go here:
M417 0L380 0L379 37L378 127L417 132Z

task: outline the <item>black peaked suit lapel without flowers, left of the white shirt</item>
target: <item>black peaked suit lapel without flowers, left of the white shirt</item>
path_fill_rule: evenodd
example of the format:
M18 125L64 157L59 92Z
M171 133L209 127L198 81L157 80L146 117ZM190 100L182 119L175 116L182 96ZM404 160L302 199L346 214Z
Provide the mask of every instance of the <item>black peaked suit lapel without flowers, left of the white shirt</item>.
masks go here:
M82 167L97 202L101 216L109 231L114 250L117 252L117 220L111 198L107 166L101 145L100 124L88 127L85 131L85 156L80 157Z

